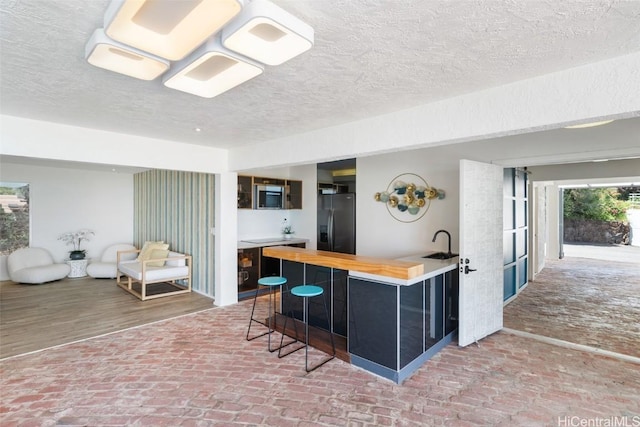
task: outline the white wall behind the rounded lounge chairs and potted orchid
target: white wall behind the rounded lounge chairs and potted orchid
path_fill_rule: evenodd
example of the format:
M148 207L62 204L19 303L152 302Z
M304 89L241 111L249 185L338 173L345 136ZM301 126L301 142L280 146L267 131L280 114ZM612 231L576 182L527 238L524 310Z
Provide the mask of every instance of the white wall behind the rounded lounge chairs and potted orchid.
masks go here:
M98 257L114 243L133 239L133 175L80 169L49 168L2 163L0 181L29 184L31 246L43 247L57 262L71 246L58 237L88 228L95 235L82 242L89 257ZM0 263L0 280L8 280L6 257Z

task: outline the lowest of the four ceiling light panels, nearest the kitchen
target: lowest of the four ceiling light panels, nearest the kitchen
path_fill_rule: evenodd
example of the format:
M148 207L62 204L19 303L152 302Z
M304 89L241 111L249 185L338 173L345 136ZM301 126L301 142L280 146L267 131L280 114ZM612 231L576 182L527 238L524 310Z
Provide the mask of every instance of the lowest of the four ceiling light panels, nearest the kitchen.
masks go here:
M175 64L162 81L171 88L213 98L260 74L261 64L225 49L213 37L187 58Z

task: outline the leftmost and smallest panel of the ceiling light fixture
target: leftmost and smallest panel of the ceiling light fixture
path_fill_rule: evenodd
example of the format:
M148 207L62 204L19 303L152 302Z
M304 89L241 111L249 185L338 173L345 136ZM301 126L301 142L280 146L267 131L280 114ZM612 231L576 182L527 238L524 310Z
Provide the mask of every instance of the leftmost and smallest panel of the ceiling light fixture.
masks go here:
M153 80L169 69L169 61L111 40L102 28L85 47L89 64L141 80Z

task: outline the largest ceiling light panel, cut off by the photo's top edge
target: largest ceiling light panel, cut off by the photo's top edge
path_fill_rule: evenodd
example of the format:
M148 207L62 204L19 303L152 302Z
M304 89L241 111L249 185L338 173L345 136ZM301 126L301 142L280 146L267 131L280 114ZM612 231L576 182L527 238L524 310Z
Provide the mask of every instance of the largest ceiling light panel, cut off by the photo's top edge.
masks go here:
M121 43L178 61L242 10L243 0L112 0L105 32Z

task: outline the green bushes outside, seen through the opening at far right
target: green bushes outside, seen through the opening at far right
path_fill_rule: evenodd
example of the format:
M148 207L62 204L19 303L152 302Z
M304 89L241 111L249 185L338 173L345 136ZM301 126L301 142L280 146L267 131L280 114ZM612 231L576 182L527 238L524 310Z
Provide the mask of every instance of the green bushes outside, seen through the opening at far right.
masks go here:
M616 188L572 188L564 190L564 217L596 221L625 221L629 202Z

